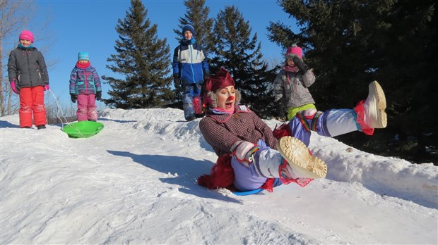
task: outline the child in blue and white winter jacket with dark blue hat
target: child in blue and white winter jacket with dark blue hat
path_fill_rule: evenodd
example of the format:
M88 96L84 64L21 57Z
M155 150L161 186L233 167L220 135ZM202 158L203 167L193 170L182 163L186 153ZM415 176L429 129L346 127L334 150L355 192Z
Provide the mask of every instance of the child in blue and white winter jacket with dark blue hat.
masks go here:
M175 88L182 87L184 118L187 121L202 118L201 87L208 77L208 59L201 45L196 44L195 30L191 25L182 27L181 44L174 50L173 80Z

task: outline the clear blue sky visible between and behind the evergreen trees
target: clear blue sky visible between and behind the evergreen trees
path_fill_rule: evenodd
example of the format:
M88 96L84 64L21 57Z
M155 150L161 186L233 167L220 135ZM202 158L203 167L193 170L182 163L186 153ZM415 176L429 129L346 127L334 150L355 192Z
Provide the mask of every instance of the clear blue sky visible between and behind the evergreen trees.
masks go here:
M35 1L39 11L35 18L49 18L49 32L52 34L52 44L45 55L47 61L56 60L56 65L49 68L50 88L60 98L61 104L69 103L69 77L76 64L78 52L87 51L90 62L97 69L100 76L114 74L105 68L107 58L115 54L114 45L118 39L115 30L117 20L123 19L131 6L130 1ZM158 25L158 37L167 38L167 44L173 52L178 45L173 32L178 28L179 17L183 17L186 7L183 1L143 1L148 9L147 18L151 23ZM262 52L266 60L281 61L283 50L268 41L266 27L269 22L280 20L297 30L295 22L285 13L275 0L235 0L235 1L206 1L210 8L210 18L215 18L218 11L225 6L236 6L245 20L249 21L252 35L257 37L262 45ZM47 15L46 15L47 13ZM32 31L32 30L31 30ZM17 34L18 36L18 34ZM37 39L37 37L35 37ZM37 48L41 45L34 44ZM171 64L169 64L171 65ZM107 98L109 85L102 84L104 98ZM52 96L52 95L50 95Z

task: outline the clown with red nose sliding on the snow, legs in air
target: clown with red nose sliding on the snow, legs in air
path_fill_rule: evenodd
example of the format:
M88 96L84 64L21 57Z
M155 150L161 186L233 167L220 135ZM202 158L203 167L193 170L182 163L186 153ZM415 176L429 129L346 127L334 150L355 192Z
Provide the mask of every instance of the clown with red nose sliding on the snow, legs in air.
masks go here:
M353 109L307 109L274 131L239 100L227 70L221 68L206 81L203 103L208 112L199 129L219 158L211 175L199 177L202 186L272 191L278 184L295 182L304 187L327 173L326 163L307 149L311 131L335 137L353 131L373 134L374 128L386 127L386 99L375 81L367 99Z

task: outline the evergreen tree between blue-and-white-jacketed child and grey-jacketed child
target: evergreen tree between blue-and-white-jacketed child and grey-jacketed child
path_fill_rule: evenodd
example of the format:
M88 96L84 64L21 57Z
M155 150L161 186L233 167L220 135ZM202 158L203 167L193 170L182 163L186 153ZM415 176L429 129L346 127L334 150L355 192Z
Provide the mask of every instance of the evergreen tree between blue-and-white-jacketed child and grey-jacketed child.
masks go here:
M262 60L261 44L257 34L250 37L249 22L235 6L226 6L218 13L213 31L211 73L222 66L226 68L242 92L242 103L261 117L273 115L272 84L276 69L268 70L268 64Z

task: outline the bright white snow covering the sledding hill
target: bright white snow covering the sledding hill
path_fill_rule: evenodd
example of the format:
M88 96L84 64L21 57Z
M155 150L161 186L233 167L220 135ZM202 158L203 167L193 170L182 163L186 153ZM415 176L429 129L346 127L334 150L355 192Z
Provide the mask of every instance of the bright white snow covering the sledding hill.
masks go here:
M326 179L235 196L196 184L217 158L199 120L171 108L99 120L102 132L72 139L1 118L0 244L438 244L432 163L312 135Z

